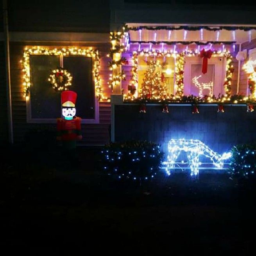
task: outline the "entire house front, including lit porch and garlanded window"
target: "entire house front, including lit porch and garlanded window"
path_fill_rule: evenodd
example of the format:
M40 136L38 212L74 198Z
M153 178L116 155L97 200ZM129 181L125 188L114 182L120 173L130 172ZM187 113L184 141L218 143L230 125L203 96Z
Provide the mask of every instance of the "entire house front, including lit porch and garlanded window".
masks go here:
M186 126L192 125L194 128L181 134L183 125L179 122L172 124L172 128L168 126L172 115L158 116L159 113L163 114L162 110L156 112L156 107L162 109L166 103L172 109L170 113L179 113L177 120L190 120L192 117L186 115L191 112L188 107L190 109L194 104L181 100L186 95L215 95L220 98L220 101L197 102L197 105L212 104L208 106L211 107L210 113L215 113L214 107L217 108L220 103L226 104L226 109L238 103L241 106L237 107L246 109L249 103L254 102L251 96L253 93L248 87L249 75L243 70L249 58L254 59L253 49L256 47L255 11L250 6L238 9L235 4L230 5L225 1L218 6L214 3L204 5L200 1L190 5L178 0L163 0L158 4L132 0L79 1L72 5L62 1L61 11L57 11L59 4L50 1L14 4L12 0L7 1L10 86L6 82L5 70L8 65L5 55L6 34L3 30L0 55L3 110L0 114L3 120L0 125L1 141L22 143L26 134L33 129L55 129L60 97L47 83L47 72L57 66L71 71L74 77L72 90L79 92L78 115L82 117L83 135L81 145L104 145L111 139L145 138L162 143L173 136L193 137L194 130L203 131L208 124L199 127L199 120L191 119ZM2 18L4 24L6 17ZM124 24L127 24L125 30L122 29ZM111 40L109 32L112 33ZM118 52L122 44L124 49ZM202 77L202 58L199 55L203 49L211 50L213 55L208 59L208 71ZM107 56L109 51L110 55ZM241 58L236 57L238 52ZM142 90L143 79L149 69L147 62L150 61L153 65L159 61L159 81L161 88L166 88L167 98L163 98L159 92L152 98L152 91ZM95 78L92 74L97 72ZM221 95L226 98L242 95L242 100L239 102L241 97L231 98L226 102ZM250 101L244 99L246 97ZM146 115L152 117L146 118L141 113L138 115L141 103L147 104ZM8 106L11 106L11 110ZM208 109L199 107L201 113L205 112L200 117L205 116L203 119L206 120ZM149 114L150 108L154 114ZM227 112L225 115L228 115ZM132 119L132 116L137 119ZM232 119L231 116L229 118ZM215 119L208 121L213 123ZM134 125L136 122L144 125L139 128L140 131ZM218 126L223 122L217 122ZM236 126L234 134L241 128ZM170 131L175 129L177 132L171 134ZM211 134L216 129L214 127ZM222 125L221 129L229 128ZM254 138L253 132L247 134L246 140ZM227 136L225 132L218 140L223 136ZM206 140L208 137L206 133L200 139ZM217 135L212 140L216 138ZM234 135L230 143L237 142L236 139ZM216 147L213 145L213 148Z

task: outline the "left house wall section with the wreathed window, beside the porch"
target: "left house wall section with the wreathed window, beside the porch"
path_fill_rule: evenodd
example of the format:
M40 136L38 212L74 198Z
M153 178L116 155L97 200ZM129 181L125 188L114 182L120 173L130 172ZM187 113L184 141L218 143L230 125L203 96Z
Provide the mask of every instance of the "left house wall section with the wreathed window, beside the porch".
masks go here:
M78 109L77 113L82 118L81 144L107 143L110 125L110 103L107 99L111 93L107 86L110 70L109 58L106 57L110 47L109 2L79 1L70 5L68 1L7 1L7 14L11 111L7 104L6 38L2 30L0 140L4 143L23 143L31 131L56 129L56 117L61 115L60 93L52 90L47 81L50 69L64 63L73 69L72 73L76 73L73 85L82 88L77 99L84 112L79 113ZM2 24L4 18L1 17ZM70 49L73 52L63 58L59 51ZM95 68L100 80L98 85L92 75L96 72ZM101 91L100 95L97 90ZM9 121L8 116L11 116Z

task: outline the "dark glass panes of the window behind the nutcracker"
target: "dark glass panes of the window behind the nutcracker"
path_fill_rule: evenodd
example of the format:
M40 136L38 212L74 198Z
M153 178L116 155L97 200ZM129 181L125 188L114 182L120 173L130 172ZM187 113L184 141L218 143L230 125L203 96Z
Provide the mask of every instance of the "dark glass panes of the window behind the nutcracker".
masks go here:
M59 56L30 55L31 118L58 118L61 116L61 93L48 82L50 69L60 65ZM77 93L77 116L95 118L95 97L92 58L70 56L63 58L63 66L73 76L70 90Z

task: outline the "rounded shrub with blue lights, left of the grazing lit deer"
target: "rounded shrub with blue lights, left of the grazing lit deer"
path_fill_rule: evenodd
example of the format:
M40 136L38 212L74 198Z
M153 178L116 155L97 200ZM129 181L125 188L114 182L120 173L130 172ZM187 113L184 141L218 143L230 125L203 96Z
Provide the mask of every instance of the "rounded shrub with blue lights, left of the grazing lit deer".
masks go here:
M110 143L101 152L104 171L118 179L151 179L163 160L160 145L150 141Z

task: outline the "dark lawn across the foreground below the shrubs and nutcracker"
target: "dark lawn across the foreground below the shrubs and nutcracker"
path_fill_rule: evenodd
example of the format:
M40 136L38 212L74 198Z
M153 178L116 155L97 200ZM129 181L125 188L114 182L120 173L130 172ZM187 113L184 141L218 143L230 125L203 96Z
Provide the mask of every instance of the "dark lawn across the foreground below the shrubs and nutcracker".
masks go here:
M32 152L5 150L0 250L34 255L62 250L70 255L77 250L87 255L247 255L254 250L252 184L238 185L228 174L201 173L192 180L179 173L159 174L140 186L104 175L97 149L78 153L80 165L69 168L57 160L59 152L31 161Z

